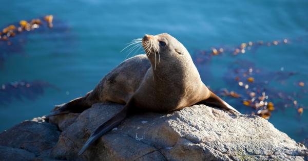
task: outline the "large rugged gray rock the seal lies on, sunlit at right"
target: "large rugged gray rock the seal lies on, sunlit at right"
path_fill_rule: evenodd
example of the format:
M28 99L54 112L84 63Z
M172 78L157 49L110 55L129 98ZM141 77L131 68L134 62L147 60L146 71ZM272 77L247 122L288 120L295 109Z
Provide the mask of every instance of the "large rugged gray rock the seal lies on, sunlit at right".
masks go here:
M32 126L40 126L40 130L52 135L52 144L49 144L49 149L34 144L40 148L25 146L28 147L25 150L36 154L35 159L44 158L43 160L308 159L308 150L303 144L296 143L263 118L233 114L205 105L194 105L172 113L134 114L103 135L83 155L78 156L78 151L90 133L122 107L119 104L94 104L81 114L56 116L50 118L49 123L40 123L48 124L44 125L48 127L46 129L38 123L32 123ZM57 125L59 129L52 127L50 123ZM22 129L22 124L25 122L12 129L27 131L32 127ZM20 139L15 142L3 141L4 136L8 137L14 131L12 129L0 134L0 145L21 148L20 145L31 139L16 135ZM46 138L45 135L42 138ZM56 144L54 140L57 140ZM40 144L46 145L45 140ZM1 156L0 148L0 158Z

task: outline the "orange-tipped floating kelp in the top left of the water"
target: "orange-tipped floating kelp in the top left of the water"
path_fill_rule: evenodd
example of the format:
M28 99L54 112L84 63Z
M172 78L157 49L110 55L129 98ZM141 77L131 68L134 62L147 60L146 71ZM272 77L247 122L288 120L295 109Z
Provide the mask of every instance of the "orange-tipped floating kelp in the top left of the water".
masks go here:
M34 33L42 34L45 39L52 39L49 41L56 42L59 39L65 39L65 48L71 49L74 37L66 22L55 19L52 15L31 20L21 20L0 28L0 65L3 64L6 57L12 54L25 54L24 44L28 42L27 37L29 34ZM44 33L48 33L48 35Z

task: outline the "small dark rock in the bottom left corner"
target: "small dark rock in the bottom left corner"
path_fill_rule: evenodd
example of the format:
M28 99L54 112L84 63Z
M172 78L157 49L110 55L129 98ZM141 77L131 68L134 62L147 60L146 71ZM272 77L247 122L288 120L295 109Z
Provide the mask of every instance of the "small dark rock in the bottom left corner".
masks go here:
M33 158L35 158L35 154L30 153L27 150L0 146L0 160L2 161L22 161L31 160Z

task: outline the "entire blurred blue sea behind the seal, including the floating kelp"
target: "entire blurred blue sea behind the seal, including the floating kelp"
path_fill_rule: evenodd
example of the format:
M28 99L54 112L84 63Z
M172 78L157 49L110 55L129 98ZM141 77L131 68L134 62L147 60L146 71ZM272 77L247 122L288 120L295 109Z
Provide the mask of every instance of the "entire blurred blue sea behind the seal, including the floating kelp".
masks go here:
M120 53L126 43L167 32L230 105L268 119L297 142L308 137L307 1L1 4L0 131L85 95L129 54ZM42 22L26 31L21 20L33 18ZM4 38L10 25L16 34ZM134 54L143 51L128 57Z

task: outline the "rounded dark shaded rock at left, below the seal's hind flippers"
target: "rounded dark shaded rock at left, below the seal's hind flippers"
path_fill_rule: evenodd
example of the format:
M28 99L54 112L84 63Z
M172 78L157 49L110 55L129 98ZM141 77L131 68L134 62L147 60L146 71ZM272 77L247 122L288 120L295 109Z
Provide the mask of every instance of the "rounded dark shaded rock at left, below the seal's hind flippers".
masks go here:
M59 139L60 131L42 118L24 121L0 133L0 145L27 150L35 155L50 152Z

